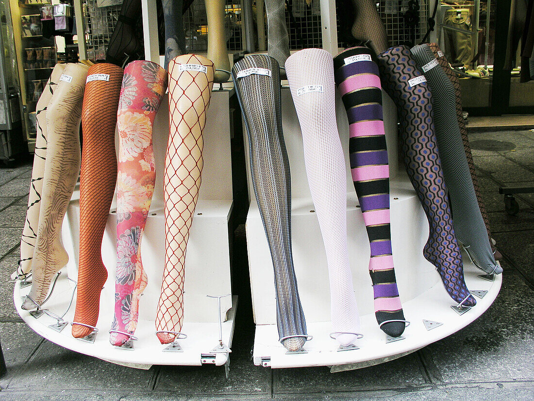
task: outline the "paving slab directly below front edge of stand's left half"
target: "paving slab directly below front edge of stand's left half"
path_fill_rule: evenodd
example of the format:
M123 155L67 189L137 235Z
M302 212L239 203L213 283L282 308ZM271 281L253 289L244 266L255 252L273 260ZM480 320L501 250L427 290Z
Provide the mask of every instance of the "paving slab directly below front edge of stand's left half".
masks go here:
M156 368L147 371L93 358L45 340L10 383L11 389L120 390L152 389Z

